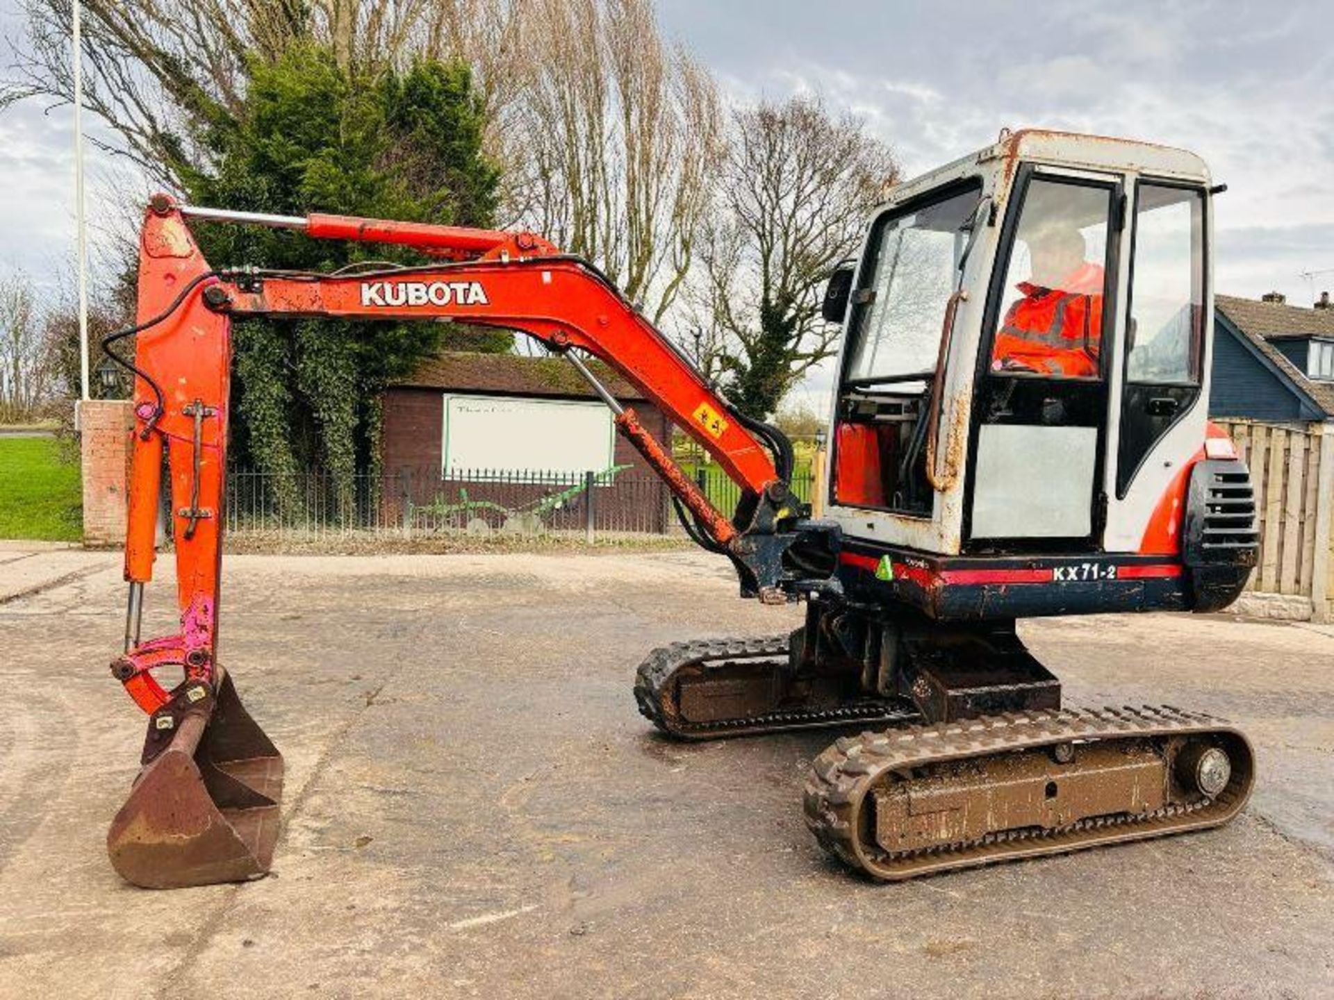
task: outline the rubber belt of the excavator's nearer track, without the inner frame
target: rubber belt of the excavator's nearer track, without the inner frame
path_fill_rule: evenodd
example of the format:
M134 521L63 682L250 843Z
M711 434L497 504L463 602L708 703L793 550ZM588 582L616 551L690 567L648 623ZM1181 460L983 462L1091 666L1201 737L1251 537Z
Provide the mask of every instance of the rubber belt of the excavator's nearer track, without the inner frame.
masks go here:
M858 839L862 803L888 771L907 773L930 764L1071 740L1157 739L1199 733L1233 737L1247 753L1246 760L1234 760L1231 781L1213 800L1201 797L1194 803L1169 804L1138 816L1090 817L1057 829L1002 831L922 851L890 853L875 843L860 843ZM806 824L815 839L846 864L875 879L894 881L955 868L1218 827L1233 819L1246 804L1254 775L1254 752L1246 737L1227 721L1201 712L1186 712L1170 705L1011 712L838 740L811 767L804 795Z

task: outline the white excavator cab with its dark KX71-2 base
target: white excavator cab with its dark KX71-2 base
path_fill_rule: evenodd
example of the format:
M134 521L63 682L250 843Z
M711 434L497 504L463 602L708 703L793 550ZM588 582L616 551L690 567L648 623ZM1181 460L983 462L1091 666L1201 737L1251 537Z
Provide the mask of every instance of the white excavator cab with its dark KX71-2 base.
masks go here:
M844 560L926 560L938 592L900 596L946 617L1230 601L1247 545L1230 573L1217 547L1186 553L1198 579L1162 560L1213 469L1195 459L1235 457L1206 416L1211 196L1191 153L1054 132L896 188L826 299L846 332L827 476ZM983 567L992 591L947 587ZM1035 572L1049 588L1006 588Z

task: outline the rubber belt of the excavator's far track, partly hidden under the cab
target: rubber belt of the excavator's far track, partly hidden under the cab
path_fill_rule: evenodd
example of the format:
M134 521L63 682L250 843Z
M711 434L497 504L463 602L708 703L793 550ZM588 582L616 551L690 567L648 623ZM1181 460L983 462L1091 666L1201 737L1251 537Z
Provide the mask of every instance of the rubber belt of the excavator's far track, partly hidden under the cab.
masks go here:
M635 703L639 705L639 713L670 736L695 740L755 736L788 729L851 725L854 723L915 721L918 719L915 711L902 708L896 701L879 699L866 699L836 708L791 708L758 716L696 724L670 720L663 711L664 697L678 671L698 664L703 664L707 671L710 661L734 663L758 659L772 659L776 661L775 668L786 669L788 643L790 636L783 632L762 637L696 639L654 649L639 664L639 671L635 675Z

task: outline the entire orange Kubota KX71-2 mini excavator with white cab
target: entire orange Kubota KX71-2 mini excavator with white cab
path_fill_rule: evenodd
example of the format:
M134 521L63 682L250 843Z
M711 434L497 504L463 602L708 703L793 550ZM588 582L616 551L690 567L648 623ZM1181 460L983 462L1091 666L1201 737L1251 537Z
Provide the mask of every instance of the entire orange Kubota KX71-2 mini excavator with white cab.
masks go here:
M828 493L790 492L792 448L746 417L587 260L531 233L264 216L155 197L144 216L125 652L148 713L108 845L145 887L268 871L283 760L217 661L231 319L444 317L563 355L667 481L690 537L744 597L806 601L795 632L678 643L639 668L640 711L679 739L858 727L814 763L806 816L891 880L1215 827L1254 755L1179 708L1071 709L1021 617L1213 611L1255 563L1251 485L1206 420L1211 201L1191 153L1026 131L900 184L838 268L843 324ZM209 264L192 220L414 247L415 267ZM723 513L584 363L619 371L740 485ZM180 631L140 640L161 471ZM155 679L183 671L179 683ZM180 675L177 675L179 677Z

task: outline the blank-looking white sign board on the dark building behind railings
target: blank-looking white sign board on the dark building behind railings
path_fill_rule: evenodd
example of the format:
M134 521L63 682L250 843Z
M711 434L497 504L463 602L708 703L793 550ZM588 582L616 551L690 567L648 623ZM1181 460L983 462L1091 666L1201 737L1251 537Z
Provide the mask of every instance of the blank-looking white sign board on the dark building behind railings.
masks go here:
M603 472L615 443L602 403L444 393L444 475Z

